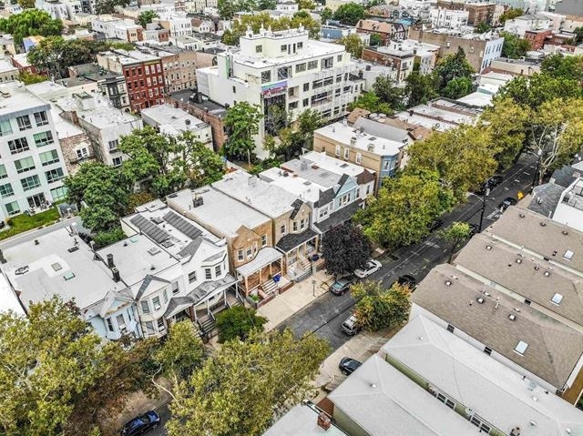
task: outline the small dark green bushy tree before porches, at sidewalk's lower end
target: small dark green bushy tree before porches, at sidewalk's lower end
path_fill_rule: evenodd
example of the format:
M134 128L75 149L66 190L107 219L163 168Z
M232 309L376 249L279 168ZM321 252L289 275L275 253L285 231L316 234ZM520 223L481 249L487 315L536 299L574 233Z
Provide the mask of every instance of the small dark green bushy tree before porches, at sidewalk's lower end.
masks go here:
M251 330L263 330L267 318L257 315L257 311L244 306L223 310L217 315L219 343L228 340L246 340Z

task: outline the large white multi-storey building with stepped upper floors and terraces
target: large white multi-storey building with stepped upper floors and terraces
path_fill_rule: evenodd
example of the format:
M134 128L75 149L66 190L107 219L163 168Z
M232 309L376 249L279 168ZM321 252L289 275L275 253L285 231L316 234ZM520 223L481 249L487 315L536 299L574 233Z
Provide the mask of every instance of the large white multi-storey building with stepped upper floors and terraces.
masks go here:
M240 50L220 53L217 63L197 69L201 94L221 105L247 101L265 115L277 105L292 121L308 108L326 120L343 117L363 89L363 80L351 77L356 66L344 47L309 39L303 27L281 32L261 28L255 35L249 28L240 37ZM261 120L258 145L264 129Z

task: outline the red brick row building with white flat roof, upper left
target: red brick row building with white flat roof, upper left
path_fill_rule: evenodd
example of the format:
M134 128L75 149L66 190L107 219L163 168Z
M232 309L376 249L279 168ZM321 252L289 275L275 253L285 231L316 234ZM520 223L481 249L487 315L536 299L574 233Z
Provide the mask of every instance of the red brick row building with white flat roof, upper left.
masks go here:
M97 65L126 79L132 112L164 102L162 59L138 50L112 50L97 55Z

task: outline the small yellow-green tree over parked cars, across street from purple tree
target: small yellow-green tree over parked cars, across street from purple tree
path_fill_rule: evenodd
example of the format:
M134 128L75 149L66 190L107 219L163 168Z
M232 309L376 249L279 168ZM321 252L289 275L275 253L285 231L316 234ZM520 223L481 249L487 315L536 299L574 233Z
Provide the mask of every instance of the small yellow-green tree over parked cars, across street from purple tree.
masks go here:
M365 280L354 283L351 293L356 299L356 319L364 330L400 326L409 319L411 292L407 287L395 283L383 289L380 282Z

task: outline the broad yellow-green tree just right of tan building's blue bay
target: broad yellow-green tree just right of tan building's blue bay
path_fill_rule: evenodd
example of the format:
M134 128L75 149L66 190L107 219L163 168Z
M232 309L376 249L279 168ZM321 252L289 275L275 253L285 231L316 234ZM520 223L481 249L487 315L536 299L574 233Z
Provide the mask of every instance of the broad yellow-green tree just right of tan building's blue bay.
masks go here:
M501 150L487 129L460 126L445 132L434 132L409 147L408 167L436 171L442 183L459 200L476 189L496 171L495 156Z

